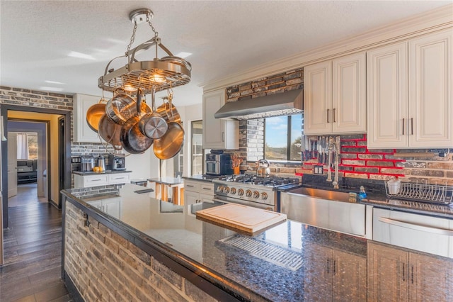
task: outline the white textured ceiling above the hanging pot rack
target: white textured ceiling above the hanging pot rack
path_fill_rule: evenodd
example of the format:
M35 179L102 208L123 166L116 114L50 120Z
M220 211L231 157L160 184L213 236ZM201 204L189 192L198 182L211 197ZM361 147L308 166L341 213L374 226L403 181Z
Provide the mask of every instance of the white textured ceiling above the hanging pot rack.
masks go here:
M192 81L174 89L175 104L185 106L201 102L200 83L451 3L1 0L0 84L27 89L50 86L66 94L101 95L98 77L109 60L124 54L129 43L133 28L130 11L149 8L154 11L152 23L161 42L173 54L193 53L187 58L193 66ZM151 34L147 24L139 25L134 46ZM69 57L69 52L91 58ZM154 52L141 56L142 60L151 60ZM164 53L159 54L162 56Z

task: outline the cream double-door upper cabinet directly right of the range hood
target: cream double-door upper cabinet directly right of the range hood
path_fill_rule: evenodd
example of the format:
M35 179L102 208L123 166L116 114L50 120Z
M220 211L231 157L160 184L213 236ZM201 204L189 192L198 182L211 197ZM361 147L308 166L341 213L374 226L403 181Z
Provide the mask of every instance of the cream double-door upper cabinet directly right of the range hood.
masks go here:
M365 52L304 67L304 133L366 131Z

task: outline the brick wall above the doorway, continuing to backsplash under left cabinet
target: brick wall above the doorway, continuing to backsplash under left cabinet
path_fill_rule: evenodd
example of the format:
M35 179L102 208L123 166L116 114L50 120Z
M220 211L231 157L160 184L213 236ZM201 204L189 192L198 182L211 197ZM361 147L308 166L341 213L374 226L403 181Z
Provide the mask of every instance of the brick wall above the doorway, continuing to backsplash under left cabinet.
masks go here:
M61 111L73 110L73 99L70 94L57 94L39 90L30 90L23 88L14 88L0 86L0 104L14 106L28 106L38 108L50 108ZM71 141L73 138L74 116L71 115ZM108 145L108 150L113 152L113 147ZM72 142L71 155L92 154L100 155L108 152L105 147L99 143Z

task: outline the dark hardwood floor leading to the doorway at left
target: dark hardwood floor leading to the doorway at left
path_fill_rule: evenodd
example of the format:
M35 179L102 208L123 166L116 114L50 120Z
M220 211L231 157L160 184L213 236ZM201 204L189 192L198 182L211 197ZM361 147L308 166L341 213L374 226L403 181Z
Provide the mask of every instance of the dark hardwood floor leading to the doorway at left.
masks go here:
M71 301L61 279L62 213L24 189L8 208L0 301Z

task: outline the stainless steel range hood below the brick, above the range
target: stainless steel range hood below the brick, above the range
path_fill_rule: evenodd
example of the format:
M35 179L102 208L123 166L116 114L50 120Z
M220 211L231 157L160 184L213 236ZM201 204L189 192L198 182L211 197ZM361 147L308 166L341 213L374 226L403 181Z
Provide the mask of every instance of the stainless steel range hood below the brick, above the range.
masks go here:
M289 116L302 113L304 99L302 89L260 96L255 99L231 101L214 114L215 118L251 120L270 116Z

